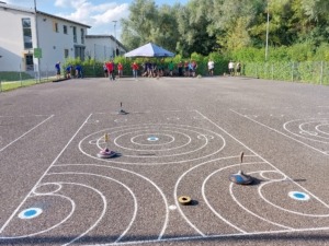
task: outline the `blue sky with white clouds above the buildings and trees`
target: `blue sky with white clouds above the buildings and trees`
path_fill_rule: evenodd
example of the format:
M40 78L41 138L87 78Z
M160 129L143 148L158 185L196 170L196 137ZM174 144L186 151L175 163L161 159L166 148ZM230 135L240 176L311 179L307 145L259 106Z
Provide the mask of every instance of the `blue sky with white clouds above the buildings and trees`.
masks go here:
M1 0L8 4L34 9L34 0ZM111 34L114 36L114 22L127 17L132 0L35 0L39 11L69 19L92 26L88 34ZM156 4L185 4L188 0L155 0ZM121 25L116 23L116 37L120 39Z

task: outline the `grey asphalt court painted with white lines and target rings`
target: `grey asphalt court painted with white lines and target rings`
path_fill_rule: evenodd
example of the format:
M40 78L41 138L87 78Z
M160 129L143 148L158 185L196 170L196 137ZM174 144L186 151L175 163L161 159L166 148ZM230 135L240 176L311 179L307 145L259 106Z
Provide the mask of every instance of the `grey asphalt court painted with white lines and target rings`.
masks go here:
M0 245L329 245L328 95L229 77L1 93Z

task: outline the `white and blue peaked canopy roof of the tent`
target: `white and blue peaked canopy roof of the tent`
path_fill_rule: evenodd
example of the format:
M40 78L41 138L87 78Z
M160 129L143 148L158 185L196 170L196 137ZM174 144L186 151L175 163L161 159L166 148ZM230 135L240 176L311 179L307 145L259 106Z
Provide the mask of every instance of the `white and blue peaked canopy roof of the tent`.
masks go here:
M148 43L137 49L126 52L125 57L174 57L174 54L152 43Z

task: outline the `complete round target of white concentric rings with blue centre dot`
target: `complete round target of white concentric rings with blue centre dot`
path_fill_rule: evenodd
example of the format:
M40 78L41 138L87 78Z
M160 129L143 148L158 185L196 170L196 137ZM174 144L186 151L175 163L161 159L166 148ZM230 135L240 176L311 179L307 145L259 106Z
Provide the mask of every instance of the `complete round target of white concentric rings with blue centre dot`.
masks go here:
M104 133L109 134L109 142L102 141ZM102 162L152 165L205 159L222 151L225 144L220 134L204 128L161 124L102 129L84 137L79 150ZM97 153L104 148L120 157L100 160Z

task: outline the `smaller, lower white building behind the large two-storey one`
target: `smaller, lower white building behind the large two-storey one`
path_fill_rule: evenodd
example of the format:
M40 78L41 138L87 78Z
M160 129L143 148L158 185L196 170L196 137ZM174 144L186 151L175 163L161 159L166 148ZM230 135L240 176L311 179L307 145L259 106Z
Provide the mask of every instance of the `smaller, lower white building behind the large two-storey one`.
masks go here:
M112 35L87 35L86 56L107 61L126 52L125 47Z

